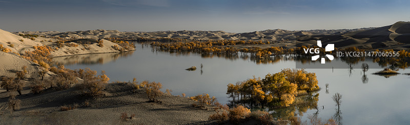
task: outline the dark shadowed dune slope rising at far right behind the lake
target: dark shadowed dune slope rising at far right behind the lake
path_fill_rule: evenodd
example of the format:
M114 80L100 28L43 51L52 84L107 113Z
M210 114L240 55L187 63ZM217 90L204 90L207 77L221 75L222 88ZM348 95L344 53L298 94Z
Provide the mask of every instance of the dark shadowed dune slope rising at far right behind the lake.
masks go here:
M335 44L337 48L358 47L362 49L408 49L410 46L410 22L332 35L308 35L298 40L300 46L306 41L325 39L322 43ZM314 45L314 44L310 44Z

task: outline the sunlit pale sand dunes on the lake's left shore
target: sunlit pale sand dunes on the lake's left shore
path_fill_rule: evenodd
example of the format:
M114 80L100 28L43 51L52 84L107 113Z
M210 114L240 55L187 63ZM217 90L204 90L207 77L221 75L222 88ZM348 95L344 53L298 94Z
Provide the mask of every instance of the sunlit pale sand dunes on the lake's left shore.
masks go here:
M115 31L112 31L115 32ZM41 33L41 32L31 32L31 33ZM45 32L49 33L49 32ZM71 32L73 33L73 32ZM74 32L75 33L75 32ZM61 35L61 33L57 33ZM70 36L77 36L77 37L82 37L77 34L68 34ZM32 38L34 40L31 40L29 38ZM87 40L87 39L86 39ZM21 71L21 68L23 66L27 67L28 70L28 75L26 76L27 78L38 78L38 71L39 71L39 66L38 64L33 63L32 61L29 61L23 57L21 57L18 54L24 54L26 51L31 51L34 50L33 46L43 46L43 45L52 45L52 48L55 49L55 51L51 51L51 56L52 57L58 57L58 56L68 56L68 55L78 55L78 54L90 54L90 53L114 53L114 52L120 52L119 50L113 49L112 46L118 46L115 43L112 43L109 40L101 39L104 41L104 47L99 47L97 45L97 40L96 39L91 39L94 40L93 42L88 39L87 45L83 45L78 42L78 40L72 40L72 41L67 41L66 43L72 43L72 44L77 44L77 47L69 47L69 46L63 46L57 48L55 45L55 41L57 39L55 38L46 38L46 37L31 37L27 36L27 38L19 35L12 34L10 32L4 31L0 29L0 44L5 47L9 48L11 52L6 53L3 51L0 51L0 76L15 76L15 73L17 71ZM121 46L118 46L118 49L122 49ZM125 50L128 51L128 50Z

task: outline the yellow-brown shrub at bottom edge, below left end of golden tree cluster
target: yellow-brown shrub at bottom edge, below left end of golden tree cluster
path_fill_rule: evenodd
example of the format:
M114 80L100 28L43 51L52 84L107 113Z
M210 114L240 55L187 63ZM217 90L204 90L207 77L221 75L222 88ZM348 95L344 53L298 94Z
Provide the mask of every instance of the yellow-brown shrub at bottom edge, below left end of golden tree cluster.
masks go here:
M229 120L238 123L242 118L247 117L249 113L251 113L251 110L239 105L229 110Z

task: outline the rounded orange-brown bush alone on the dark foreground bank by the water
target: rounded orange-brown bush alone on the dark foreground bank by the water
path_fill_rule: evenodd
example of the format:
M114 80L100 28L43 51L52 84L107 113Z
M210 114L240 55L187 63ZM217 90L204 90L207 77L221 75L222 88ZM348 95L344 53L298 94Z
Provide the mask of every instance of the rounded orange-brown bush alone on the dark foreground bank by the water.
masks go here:
M161 88L162 88L162 84L160 82L153 81L149 84L146 84L144 89L147 93L149 101L151 102L157 101L157 98L163 94L161 90L159 90Z

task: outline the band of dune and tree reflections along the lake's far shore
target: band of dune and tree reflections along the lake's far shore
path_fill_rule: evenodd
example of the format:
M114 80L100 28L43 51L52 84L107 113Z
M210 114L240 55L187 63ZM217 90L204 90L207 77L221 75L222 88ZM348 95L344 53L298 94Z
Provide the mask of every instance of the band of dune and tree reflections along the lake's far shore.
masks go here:
M276 64L280 61L296 61L301 63L302 65L306 64L320 64L319 61L315 61L311 59L311 56L297 56L294 54L291 55L272 55L265 58L258 58L255 54L252 53L242 53L237 52L233 54L212 54L212 53L198 53L198 52L175 52L175 51L167 51L162 49L156 49L155 47L149 45L149 42L144 43L137 43L141 45L141 49L144 47L151 47L151 52L158 54L158 52L168 52L171 56L189 56L192 54L200 55L202 58L225 58L231 61L235 61L237 59L252 61L257 65L263 64ZM122 52L122 53L104 53L104 54L86 54L86 55L74 55L74 56L66 56L66 57L56 57L53 59L56 65L73 65L73 64L105 64L111 61L115 61L121 57L129 57L132 56L134 51L131 52ZM341 60L345 64L347 64L348 73L351 76L352 71L354 69L359 69L359 63L365 62L365 60L372 60L373 63L377 63L378 66L367 66L368 68L385 68L388 67L390 69L406 69L407 63L410 59L397 59L394 57L337 57L335 56L334 61ZM332 60L325 60L326 62L331 62ZM309 67L307 67L309 69ZM314 68L314 67L312 67ZM345 68L345 67L339 67ZM388 76L389 77L389 76Z

